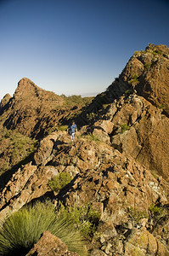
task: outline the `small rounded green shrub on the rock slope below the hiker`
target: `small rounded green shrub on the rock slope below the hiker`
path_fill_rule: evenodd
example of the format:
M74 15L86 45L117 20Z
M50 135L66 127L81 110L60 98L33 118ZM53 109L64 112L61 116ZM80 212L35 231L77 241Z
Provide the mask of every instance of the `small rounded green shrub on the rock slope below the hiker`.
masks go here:
M60 172L57 176L48 181L48 187L56 192L63 189L71 181L70 173Z

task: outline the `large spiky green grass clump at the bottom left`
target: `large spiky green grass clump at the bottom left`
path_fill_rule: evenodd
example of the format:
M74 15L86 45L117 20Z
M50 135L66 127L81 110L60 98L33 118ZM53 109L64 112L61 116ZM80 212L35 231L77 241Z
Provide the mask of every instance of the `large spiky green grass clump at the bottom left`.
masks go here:
M70 251L86 255L80 232L69 219L55 212L51 202L37 202L6 218L0 229L0 255L24 256L44 230L58 236Z

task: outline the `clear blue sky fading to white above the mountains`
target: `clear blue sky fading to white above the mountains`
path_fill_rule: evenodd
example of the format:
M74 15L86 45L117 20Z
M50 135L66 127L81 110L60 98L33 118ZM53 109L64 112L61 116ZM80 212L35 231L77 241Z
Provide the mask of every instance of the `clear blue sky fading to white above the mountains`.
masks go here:
M0 98L26 77L57 94L104 91L135 50L169 46L165 0L0 0Z

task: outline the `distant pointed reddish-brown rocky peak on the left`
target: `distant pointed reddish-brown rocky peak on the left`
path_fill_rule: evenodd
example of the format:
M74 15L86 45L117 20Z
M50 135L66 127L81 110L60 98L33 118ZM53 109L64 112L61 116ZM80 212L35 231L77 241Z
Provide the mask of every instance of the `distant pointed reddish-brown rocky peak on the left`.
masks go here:
M10 101L9 101L10 99ZM66 119L72 118L82 106L72 108L64 105L63 97L52 91L42 90L30 79L21 79L13 97L4 96L0 113L3 126L21 134L38 139L56 130Z

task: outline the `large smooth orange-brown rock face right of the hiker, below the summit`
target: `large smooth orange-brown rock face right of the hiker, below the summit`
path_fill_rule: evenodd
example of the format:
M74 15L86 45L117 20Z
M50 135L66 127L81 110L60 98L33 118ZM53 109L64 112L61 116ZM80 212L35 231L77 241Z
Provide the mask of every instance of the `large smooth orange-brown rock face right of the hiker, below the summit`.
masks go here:
M105 124L109 124L109 130ZM168 178L169 119L144 97L121 96L111 103L102 119L93 124L93 133L104 141L106 137L121 153Z

